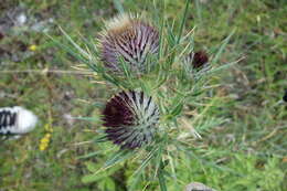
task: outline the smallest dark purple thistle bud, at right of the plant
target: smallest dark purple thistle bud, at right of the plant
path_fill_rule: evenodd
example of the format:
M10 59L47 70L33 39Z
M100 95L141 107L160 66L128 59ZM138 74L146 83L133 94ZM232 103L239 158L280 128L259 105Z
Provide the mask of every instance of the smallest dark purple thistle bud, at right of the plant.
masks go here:
M193 68L201 68L209 62L209 56L204 51L198 51L190 53L188 60L191 62Z

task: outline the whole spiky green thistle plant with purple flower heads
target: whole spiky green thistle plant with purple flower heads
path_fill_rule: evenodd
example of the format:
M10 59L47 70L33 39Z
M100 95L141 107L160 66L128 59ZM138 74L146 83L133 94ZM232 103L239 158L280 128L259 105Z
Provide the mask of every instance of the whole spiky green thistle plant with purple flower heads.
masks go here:
M187 29L183 35L188 7L189 0L179 28L170 26L163 15L148 20L121 14L108 21L99 39L84 40L85 45L61 29L71 44L59 45L84 63L76 68L91 71L92 77L113 89L111 98L98 107L102 125L93 140L103 150L81 158L99 152L109 157L84 182L128 160L137 167L128 179L129 190L137 190L145 180L158 180L160 189L168 190L167 180L178 182L180 158L195 155L192 146L200 134L224 121L210 116L200 124L188 116L190 106L203 105L205 93L216 87L212 76L236 63L219 64L232 34L209 52L210 57L205 52L191 53L194 29ZM208 70L200 70L204 65Z

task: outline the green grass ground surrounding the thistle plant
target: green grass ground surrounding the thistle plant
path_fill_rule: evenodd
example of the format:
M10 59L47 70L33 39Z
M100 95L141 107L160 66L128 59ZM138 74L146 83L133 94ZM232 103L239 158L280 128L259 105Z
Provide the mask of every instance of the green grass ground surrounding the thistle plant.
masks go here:
M192 112L192 125L200 127L203 137L188 155L170 160L169 170L177 177L167 174L167 188L183 190L190 182L199 181L216 190L284 191L286 184L287 157L287 109L278 104L287 87L286 11L284 0L220 0L192 2L183 28L187 34L195 28L195 50L209 50L211 56L222 41L235 30L217 65L238 59L243 60L232 68L219 73L212 81L220 87L209 92L212 105L185 106ZM0 6L0 17L15 7L22 7L28 15L28 28L13 28L0 40L1 71L57 70L74 71L79 64L61 50L43 32L31 30L32 21L54 19L49 24L49 34L64 42L61 25L72 38L81 33L85 38L96 38L103 21L120 11L114 1L9 1ZM184 1L126 0L125 11L141 12L157 19L164 13L174 28L180 30L180 17ZM156 8L155 8L156 7ZM81 43L81 41L78 41ZM36 51L21 49L32 44ZM8 53L1 53L4 50ZM19 61L14 61L12 55ZM0 71L0 72L1 72ZM98 121L68 121L64 115L96 117L103 103L117 89L108 85L91 83L93 78L81 74L62 73L0 73L0 106L22 105L34 110L41 124L18 140L1 142L0 147L0 191L38 190L127 190L130 176L140 166L137 162L123 163L97 176L95 182L83 178L97 171L107 158L105 153L81 159L103 149L109 144L84 142L93 140L100 128ZM1 94L0 94L1 95ZM86 102L83 102L86 100ZM204 103L204 102L203 102ZM198 114L204 114L199 116ZM190 117L190 116L189 116ZM206 118L214 118L217 126L209 128ZM224 119L222 121L221 119ZM196 119L196 120L194 120ZM53 128L51 142L45 151L39 150L40 140L45 135L44 126ZM82 142L82 144L79 144ZM196 153L196 155L189 155ZM138 188L159 190L157 179L140 181Z

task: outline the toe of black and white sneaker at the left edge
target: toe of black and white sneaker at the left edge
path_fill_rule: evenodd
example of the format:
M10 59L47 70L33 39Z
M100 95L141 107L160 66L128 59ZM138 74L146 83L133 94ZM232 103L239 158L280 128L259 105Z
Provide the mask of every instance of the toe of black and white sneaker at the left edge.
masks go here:
M0 134L21 135L34 129L36 116L23 107L0 108Z

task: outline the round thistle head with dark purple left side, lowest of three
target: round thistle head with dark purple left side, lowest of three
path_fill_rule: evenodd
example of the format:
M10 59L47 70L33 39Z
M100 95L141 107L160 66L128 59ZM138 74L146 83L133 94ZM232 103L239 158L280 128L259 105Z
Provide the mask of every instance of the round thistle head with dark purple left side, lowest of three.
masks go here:
M144 92L120 92L106 105L104 126L107 138L123 149L135 149L152 141L159 108Z

